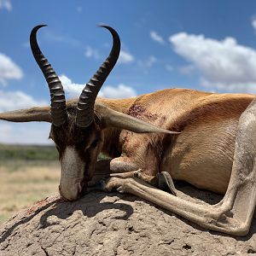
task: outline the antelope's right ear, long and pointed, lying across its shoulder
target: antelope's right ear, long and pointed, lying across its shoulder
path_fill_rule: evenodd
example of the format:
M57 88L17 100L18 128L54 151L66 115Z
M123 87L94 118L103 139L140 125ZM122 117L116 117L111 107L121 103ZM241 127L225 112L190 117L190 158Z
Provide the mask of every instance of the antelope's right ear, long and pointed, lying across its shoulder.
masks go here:
M116 127L137 133L161 132L169 134L179 134L177 131L167 131L155 125L151 125L140 119L136 119L128 114L119 113L111 108L107 108L102 104L95 105L95 113L100 120L102 127Z

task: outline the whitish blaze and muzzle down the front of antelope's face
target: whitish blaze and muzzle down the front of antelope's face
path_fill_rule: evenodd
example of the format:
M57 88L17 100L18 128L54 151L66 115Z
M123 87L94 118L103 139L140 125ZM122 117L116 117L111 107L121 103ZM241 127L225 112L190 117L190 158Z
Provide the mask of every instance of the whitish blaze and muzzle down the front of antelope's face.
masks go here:
M68 201L78 199L82 191L85 162L73 146L68 146L61 158L60 194Z

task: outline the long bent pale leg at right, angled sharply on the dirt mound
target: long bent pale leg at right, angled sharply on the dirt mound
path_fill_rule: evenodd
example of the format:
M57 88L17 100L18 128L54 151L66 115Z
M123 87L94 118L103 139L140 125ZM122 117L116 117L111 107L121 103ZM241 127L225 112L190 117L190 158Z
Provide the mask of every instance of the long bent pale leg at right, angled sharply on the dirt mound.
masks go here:
M239 119L230 183L223 200L214 206L185 201L155 189L137 177L111 177L106 187L109 189L112 186L118 188L119 192L142 197L209 230L246 236L256 204L255 113L254 100Z

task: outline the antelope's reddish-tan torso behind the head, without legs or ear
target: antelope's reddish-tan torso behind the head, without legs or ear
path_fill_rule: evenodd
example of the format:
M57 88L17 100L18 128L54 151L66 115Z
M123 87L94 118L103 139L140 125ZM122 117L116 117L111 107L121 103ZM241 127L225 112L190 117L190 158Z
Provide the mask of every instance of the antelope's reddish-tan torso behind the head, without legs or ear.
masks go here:
M108 128L103 148L122 148L122 160L132 162L134 168L142 168L146 174L170 172L175 179L224 194L230 180L238 119L253 98L245 94L172 89L125 101L97 99L123 113L129 113L134 105L140 106L138 111L146 111L134 114L138 119L182 131L178 136L163 136L131 131L119 134Z

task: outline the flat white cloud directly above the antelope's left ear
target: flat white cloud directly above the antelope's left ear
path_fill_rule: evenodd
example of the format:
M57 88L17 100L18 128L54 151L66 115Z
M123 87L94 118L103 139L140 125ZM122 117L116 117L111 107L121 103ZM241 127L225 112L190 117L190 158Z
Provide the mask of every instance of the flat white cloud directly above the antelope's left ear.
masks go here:
M48 102L36 101L32 96L20 90L0 90L0 112L44 105L48 105Z

